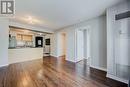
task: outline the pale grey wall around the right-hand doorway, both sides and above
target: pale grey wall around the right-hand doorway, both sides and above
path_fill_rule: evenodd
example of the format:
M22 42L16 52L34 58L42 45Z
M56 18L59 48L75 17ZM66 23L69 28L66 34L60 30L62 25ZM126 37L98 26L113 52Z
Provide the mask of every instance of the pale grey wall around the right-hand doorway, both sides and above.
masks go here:
M66 32L67 36L67 60L75 62L75 29L90 27L91 38L91 66L101 69L107 68L106 54L106 16L100 16L79 24L65 27L58 32Z

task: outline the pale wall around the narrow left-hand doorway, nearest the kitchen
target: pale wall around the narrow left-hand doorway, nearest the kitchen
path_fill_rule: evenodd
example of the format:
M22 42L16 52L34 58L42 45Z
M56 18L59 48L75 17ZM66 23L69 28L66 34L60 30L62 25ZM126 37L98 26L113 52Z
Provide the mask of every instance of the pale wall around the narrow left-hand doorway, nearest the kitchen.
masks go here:
M63 32L66 34L66 60L75 62L75 30L71 28L62 29L53 34L53 50L51 55L55 57L62 56L61 33Z

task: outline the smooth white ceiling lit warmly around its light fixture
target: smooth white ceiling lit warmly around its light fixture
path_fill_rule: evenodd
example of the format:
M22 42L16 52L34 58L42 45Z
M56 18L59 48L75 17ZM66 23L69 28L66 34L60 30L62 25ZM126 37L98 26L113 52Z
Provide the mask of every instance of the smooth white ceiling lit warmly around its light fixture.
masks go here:
M123 0L15 0L15 18L11 21L35 27L60 29L102 15L106 8Z

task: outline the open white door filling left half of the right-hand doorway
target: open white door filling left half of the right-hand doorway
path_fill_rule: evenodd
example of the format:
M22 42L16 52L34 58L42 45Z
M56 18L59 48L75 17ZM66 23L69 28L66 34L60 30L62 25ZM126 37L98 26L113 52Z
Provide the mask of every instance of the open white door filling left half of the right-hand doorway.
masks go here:
M84 59L84 33L82 30L77 30L77 51L76 62Z

